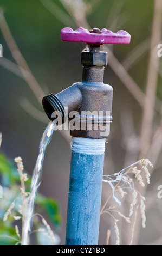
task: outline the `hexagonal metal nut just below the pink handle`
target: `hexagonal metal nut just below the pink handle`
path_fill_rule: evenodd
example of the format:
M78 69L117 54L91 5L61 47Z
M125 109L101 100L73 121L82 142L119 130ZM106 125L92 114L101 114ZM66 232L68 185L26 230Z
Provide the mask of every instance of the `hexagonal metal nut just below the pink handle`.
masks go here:
M82 51L81 64L84 66L106 66L107 52Z

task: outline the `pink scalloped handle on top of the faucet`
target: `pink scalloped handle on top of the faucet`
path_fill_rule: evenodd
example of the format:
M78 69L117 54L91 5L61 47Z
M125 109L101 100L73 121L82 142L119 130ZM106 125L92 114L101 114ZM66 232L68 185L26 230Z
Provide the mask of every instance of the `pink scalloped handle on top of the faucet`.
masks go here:
M63 28L61 30L61 40L67 42L86 42L87 44L103 45L103 44L129 44L131 35L126 31L118 31L113 33L106 28L101 31L98 28L88 31L85 28L78 28L73 31L72 28Z

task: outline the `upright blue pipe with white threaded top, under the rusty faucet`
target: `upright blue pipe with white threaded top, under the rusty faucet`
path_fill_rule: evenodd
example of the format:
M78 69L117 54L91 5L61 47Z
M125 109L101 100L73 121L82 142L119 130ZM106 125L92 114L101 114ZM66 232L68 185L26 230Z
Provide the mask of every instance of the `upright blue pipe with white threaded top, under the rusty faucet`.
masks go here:
M72 138L66 245L98 245L105 139Z

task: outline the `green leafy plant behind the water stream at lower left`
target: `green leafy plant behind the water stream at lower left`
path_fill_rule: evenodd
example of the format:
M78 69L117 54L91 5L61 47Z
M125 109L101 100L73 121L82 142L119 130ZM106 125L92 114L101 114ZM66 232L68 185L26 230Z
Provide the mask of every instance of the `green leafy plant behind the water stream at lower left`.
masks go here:
M24 172L21 157L14 161L0 153L0 181L3 187L3 198L0 199L0 245L20 245L23 233L23 221L30 197L31 179ZM37 195L33 219L33 230L38 245L58 243L59 236L52 230L61 227L62 217L59 203L53 198ZM43 215L46 214L47 223ZM20 231L20 229L22 229Z

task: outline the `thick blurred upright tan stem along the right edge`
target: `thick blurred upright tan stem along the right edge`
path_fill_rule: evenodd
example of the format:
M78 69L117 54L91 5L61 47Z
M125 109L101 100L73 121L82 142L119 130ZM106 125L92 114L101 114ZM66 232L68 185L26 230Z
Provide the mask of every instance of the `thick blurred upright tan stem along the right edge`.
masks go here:
M151 42L150 42L150 58L148 62L148 74L146 83L146 98L144 100L144 112L141 121L141 136L140 136L140 157L147 155L150 143L151 132L153 125L155 99L157 94L158 84L158 69L159 69L159 57L153 50L159 44L161 40L161 21L162 21L162 2L161 0L155 0L154 2L154 16L152 24ZM156 67L153 64L156 61Z

